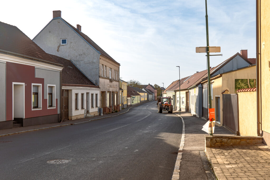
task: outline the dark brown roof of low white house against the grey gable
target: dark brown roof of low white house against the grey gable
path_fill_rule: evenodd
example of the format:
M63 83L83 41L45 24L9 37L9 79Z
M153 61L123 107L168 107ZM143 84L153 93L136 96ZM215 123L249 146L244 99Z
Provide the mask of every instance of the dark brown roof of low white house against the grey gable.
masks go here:
M50 55L56 62L63 64L62 84L82 84L96 86L70 60Z

